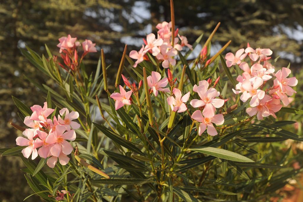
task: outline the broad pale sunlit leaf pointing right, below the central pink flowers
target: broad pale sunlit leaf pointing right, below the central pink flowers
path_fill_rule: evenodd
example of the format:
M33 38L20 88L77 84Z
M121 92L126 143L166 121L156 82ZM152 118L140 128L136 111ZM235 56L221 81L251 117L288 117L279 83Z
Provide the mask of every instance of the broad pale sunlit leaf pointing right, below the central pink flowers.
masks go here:
M231 151L224 150L224 149L215 148L215 147L200 146L198 148L189 149L189 150L208 154L208 155L222 158L222 159L232 160L232 161L254 162L253 160L251 160L245 156L242 156L238 153L231 152Z

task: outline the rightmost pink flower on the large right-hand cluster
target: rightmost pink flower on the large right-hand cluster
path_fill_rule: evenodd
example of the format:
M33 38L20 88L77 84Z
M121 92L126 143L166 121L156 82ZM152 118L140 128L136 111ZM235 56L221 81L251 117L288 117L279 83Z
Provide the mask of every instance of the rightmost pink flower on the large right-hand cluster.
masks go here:
M298 84L298 79L296 77L286 78L291 73L291 70L285 67L282 67L276 74L276 79L274 80L274 86L279 85L282 92L285 92L287 95L292 96L294 93L297 93L290 86L296 86Z

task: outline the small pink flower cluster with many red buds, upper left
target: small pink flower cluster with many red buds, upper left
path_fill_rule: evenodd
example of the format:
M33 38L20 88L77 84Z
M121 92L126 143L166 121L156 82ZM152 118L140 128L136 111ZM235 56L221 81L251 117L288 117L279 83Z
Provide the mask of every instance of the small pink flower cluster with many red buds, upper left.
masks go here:
M83 53L80 58L80 61L78 61L77 49L78 46L80 46L80 42L76 41L77 38L72 38L71 35L68 35L67 37L63 36L58 40L59 43L57 47L60 48L59 52L61 53L63 62L67 67L65 67L61 63L59 63L59 65L66 71L69 71L69 69L71 69L72 71L77 70L79 64L81 64L81 61L85 55L87 55L89 52L97 52L97 49L95 47L96 44L93 43L91 40L85 39L85 41L82 42Z

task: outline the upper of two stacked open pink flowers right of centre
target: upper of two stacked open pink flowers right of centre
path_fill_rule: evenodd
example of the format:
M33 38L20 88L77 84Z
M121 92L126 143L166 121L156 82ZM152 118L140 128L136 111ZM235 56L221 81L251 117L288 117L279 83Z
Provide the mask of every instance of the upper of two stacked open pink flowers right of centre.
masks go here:
M200 85L197 88L197 93L200 99L192 99L190 101L191 106L193 107L202 107L203 109L203 116L205 117L213 117L215 116L216 108L220 108L224 105L224 99L218 99L220 92L218 92L214 88L205 88L204 85Z

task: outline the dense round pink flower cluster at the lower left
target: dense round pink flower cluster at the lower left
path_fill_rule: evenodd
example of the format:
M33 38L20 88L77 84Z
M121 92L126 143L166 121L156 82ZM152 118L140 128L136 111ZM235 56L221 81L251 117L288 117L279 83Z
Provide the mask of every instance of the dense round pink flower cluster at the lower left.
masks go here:
M78 112L69 112L67 108L59 111L58 119L56 116L49 119L55 109L48 108L47 103L44 106L34 105L31 107L32 115L26 116L24 124L29 128L23 131L23 135L27 137L17 137L16 144L19 146L27 146L22 150L25 158L32 154L32 159L38 157L48 158L47 165L51 168L55 167L57 160L62 165L66 165L69 161L68 154L73 150L71 144L66 140L75 140L76 133L73 129L78 129L80 124L73 121L78 119ZM39 148L39 149L38 149ZM38 150L37 150L38 149Z

